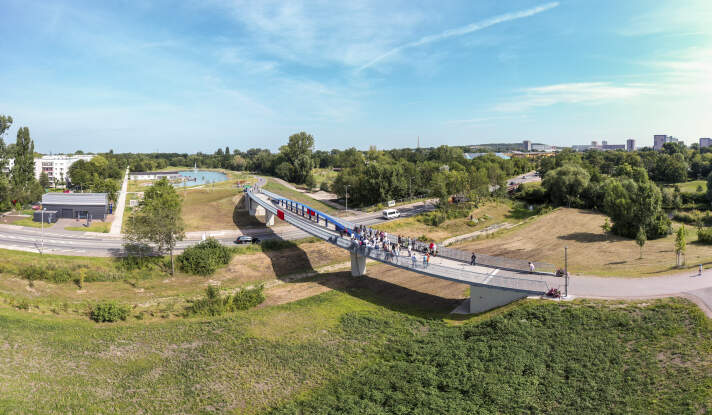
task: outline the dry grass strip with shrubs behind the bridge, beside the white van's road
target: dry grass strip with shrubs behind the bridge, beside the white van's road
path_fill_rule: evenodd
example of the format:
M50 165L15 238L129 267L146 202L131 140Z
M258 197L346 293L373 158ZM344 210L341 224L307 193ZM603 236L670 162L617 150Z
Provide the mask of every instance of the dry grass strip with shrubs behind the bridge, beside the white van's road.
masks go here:
M473 209L471 212L477 223L465 218L449 219L438 226L429 226L420 221L420 216L396 219L394 221L375 225L374 228L406 237L418 238L425 236L437 242L453 236L464 235L482 230L498 223L519 223L534 215L524 205L510 200L488 202Z

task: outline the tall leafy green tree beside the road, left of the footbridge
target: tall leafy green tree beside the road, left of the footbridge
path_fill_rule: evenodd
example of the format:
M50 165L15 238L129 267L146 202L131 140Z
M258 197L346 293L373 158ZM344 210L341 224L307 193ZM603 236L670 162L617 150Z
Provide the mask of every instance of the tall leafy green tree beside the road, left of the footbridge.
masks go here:
M175 275L173 251L185 237L182 207L183 201L173 185L161 179L146 190L138 209L131 213L125 232L125 245L151 243L159 253L169 253L171 275Z

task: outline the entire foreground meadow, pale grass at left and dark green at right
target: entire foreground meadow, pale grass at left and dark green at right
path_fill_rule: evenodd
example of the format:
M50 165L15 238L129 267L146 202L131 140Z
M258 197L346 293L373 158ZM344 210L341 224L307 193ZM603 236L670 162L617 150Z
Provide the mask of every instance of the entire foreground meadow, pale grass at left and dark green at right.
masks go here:
M451 327L353 294L114 326L2 309L0 412L712 409L710 323L687 301L533 302Z

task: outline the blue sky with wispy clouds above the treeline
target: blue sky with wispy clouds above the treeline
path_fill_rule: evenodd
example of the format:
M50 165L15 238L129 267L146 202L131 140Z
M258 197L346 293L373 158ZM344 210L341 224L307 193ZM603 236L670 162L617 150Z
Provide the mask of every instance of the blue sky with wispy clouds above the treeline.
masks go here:
M712 136L712 1L0 0L42 153Z

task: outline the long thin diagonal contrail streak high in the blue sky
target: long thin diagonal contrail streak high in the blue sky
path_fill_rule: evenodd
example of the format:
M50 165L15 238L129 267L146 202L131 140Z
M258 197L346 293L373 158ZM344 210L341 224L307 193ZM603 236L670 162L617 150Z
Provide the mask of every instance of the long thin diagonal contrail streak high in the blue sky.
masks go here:
M479 22L471 23L467 26L462 26L462 27L458 27L455 29L445 30L444 32L441 32L441 33L438 33L435 35L428 35L428 36L422 37L414 42L408 42L408 43L402 44L400 46L397 46L397 47L379 55L375 59L370 60L369 62L365 63L364 65L361 65L358 68L358 70L361 71L366 68L370 68L371 66L376 65L377 63L381 62L382 60L384 60L390 56L393 56L393 55L403 51L404 49L415 48L418 46L427 45L429 43L439 42L439 41L449 39L452 37L464 36L464 35L476 32L478 30L486 29L488 27L497 25L499 23L505 23L505 22L509 22L512 20L523 19L525 17L534 16L541 12L553 9L554 7L557 7L558 5L559 5L558 2L546 3L546 4L542 4L540 6L537 6L537 7L533 7L533 8L526 9L526 10L521 10L518 12L501 14L499 16L495 16L495 17L491 17L489 19L485 19L485 20L482 20Z

